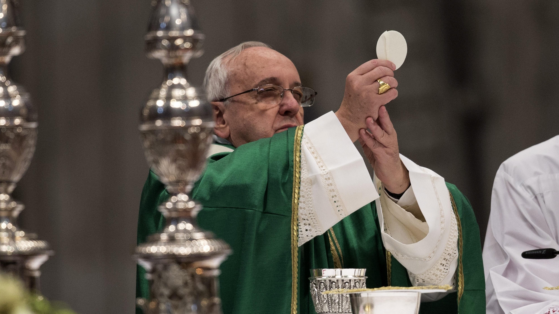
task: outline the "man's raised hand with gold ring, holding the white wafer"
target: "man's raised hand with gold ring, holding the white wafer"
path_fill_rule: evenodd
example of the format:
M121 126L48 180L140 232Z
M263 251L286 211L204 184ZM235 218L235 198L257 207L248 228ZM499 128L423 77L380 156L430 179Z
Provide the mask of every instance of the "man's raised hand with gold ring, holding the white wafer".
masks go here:
M336 116L353 142L359 138L359 129L367 126L365 119L377 120L378 109L398 96L394 69L396 65L391 61L373 59L360 65L345 79L344 98ZM377 79L392 88L378 94L380 83Z

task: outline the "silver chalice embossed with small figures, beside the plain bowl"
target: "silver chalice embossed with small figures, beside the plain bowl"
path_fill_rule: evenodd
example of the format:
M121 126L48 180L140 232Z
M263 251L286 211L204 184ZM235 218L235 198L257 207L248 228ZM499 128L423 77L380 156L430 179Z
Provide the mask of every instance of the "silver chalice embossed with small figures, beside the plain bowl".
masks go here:
M311 298L316 313L351 313L349 294L323 294L333 289L366 288L364 268L320 268L311 269Z

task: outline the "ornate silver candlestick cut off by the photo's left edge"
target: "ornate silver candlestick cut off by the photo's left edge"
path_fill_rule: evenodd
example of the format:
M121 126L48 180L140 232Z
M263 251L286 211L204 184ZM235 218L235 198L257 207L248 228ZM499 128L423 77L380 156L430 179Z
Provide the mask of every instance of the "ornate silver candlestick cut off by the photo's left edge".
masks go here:
M29 94L8 75L8 63L25 50L17 2L0 0L0 270L39 292L39 268L53 252L17 227L23 204L11 197L29 167L37 140L37 112Z

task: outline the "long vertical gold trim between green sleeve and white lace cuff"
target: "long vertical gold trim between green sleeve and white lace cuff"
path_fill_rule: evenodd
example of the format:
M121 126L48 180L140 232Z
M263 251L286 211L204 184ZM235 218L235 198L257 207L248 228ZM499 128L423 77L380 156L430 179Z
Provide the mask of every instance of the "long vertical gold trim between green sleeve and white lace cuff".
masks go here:
M301 188L301 137L302 125L295 129L293 144L293 191L291 198L291 314L297 314L297 280L299 279L299 191Z

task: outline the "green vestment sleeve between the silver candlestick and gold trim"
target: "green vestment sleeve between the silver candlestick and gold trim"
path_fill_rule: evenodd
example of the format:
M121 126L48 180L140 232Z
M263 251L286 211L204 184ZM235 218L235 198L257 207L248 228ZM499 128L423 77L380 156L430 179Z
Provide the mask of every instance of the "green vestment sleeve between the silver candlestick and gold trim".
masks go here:
M225 314L290 311L294 131L239 146L195 187L199 225L233 249L221 264Z

